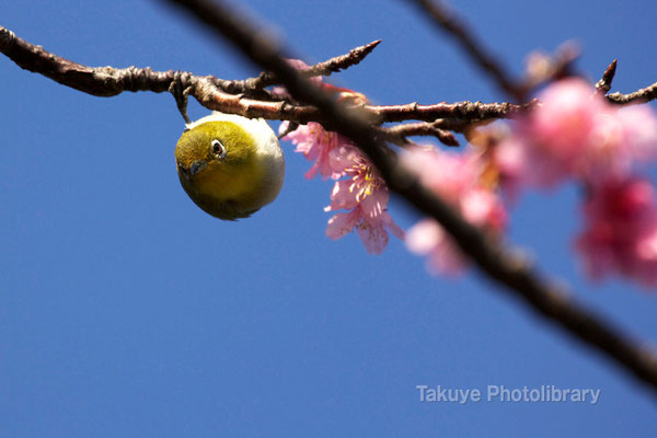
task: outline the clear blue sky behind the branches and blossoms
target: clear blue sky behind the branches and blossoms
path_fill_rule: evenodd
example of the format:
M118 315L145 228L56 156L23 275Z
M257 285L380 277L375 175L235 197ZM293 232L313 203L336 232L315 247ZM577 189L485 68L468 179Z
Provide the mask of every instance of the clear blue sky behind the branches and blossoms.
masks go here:
M241 79L257 72L157 1L22 0L0 24L69 59ZM374 103L503 99L402 1L242 1L308 61L383 39L332 78ZM592 81L657 80L655 2L460 1L496 53L581 43ZM168 94L89 96L0 57L0 437L648 436L654 395L481 275L429 277L392 241L324 237L330 183L284 145L278 200L214 219L186 197ZM193 118L207 114L195 102ZM277 127L277 123L273 124ZM655 172L653 171L653 176ZM393 201L408 228L417 218ZM644 339L657 295L590 285L577 189L522 198L510 239ZM601 390L597 405L420 403L418 384Z

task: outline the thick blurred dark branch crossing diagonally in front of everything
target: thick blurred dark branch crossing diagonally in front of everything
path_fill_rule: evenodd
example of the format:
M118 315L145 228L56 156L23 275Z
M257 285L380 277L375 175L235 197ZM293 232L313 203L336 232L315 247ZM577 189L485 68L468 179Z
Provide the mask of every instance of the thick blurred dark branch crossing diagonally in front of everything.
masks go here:
M532 310L556 323L586 345L595 346L625 370L657 390L657 359L654 353L635 343L621 330L588 309L577 304L560 288L541 277L523 261L488 240L477 228L464 221L443 200L418 184L417 180L397 165L394 155L376 140L368 113L348 108L333 101L321 89L301 78L285 61L285 54L262 32L256 32L244 16L238 16L224 3L207 0L166 0L184 7L216 34L232 42L254 64L272 71L290 94L300 102L316 106L337 130L350 138L378 168L389 188L417 210L436 219L454 238L488 277L504 286L512 296L522 299Z

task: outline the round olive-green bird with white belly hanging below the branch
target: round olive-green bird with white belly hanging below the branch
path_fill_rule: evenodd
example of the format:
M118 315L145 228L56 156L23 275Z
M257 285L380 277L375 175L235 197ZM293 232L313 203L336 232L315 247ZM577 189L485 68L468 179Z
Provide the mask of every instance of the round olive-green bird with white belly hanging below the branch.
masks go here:
M175 161L192 200L223 220L247 218L272 203L285 177L283 151L269 125L219 112L186 125Z

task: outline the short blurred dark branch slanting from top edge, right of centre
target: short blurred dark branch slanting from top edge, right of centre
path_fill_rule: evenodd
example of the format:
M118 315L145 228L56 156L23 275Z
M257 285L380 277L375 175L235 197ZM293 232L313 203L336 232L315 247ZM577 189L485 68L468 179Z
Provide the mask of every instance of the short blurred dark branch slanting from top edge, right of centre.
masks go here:
M406 1L415 3L416 7L425 12L424 15L429 16L434 23L453 36L472 60L495 80L502 91L514 97L517 102L526 101L525 91L517 85L519 82L512 79L504 66L484 48L484 45L477 41L468 26L449 11L441 1Z

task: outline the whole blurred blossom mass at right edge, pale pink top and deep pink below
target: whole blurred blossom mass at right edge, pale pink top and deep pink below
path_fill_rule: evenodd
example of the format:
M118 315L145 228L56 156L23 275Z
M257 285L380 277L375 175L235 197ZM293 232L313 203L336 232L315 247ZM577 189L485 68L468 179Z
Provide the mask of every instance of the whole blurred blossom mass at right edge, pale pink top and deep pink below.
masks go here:
M576 250L587 273L657 285L657 198L636 176L637 164L657 157L655 114L646 105L613 106L580 79L552 84L540 100L495 148L503 187L514 196L567 178L583 183L588 197Z

